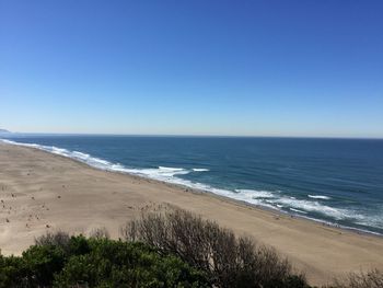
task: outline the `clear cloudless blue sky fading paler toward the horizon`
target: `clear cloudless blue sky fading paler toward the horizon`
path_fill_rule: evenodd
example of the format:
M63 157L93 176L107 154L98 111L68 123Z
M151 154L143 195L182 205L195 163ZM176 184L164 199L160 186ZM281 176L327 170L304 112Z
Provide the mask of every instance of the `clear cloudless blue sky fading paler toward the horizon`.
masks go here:
M0 0L0 128L383 137L383 1Z

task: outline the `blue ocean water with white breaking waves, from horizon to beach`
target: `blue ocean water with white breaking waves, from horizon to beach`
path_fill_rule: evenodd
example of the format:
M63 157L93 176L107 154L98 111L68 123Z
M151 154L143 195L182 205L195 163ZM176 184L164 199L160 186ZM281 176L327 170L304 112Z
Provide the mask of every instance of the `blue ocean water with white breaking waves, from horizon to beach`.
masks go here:
M383 234L383 140L8 135L98 169Z

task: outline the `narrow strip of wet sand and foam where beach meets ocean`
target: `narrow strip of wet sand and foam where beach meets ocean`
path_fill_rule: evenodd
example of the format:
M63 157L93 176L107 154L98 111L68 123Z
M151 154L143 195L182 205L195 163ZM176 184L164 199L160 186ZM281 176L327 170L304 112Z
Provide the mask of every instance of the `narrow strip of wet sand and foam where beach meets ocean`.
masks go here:
M339 229L339 230L346 230L346 231L355 232L357 234L375 235L375 237L383 238L383 233L380 233L380 232L370 231L370 230L367 230L367 229L355 228L355 227L350 227L350 226L338 224L336 222L330 222L330 221L326 221L326 220L322 220L322 219L317 219L317 218L300 215L300 214L297 214L297 212L293 214L293 212L283 211L283 210L280 210L280 209L277 209L277 208L274 208L274 207L267 207L267 206L264 206L264 205L252 204L252 203L248 203L246 200L235 199L235 198L232 198L230 196L220 195L220 194L213 193L213 192L211 192L209 189L190 187L187 184L172 183L172 182L166 182L166 181L163 181L163 180L153 178L153 177L147 176L144 174L139 175L139 174L132 173L132 172L118 171L118 170L112 170L112 169L108 169L108 168L101 168L101 166L92 165L91 163L88 163L86 161L84 161L82 159L77 159L77 158L73 158L73 157L70 157L70 155L67 155L67 154L55 152L55 148L56 149L62 149L62 148L59 148L59 147L53 147L54 148L53 151L49 151L49 150L45 149L45 147L42 146L42 145L23 143L23 142L18 142L18 141L14 141L14 140L1 139L0 138L0 143L1 142L5 143L5 145L13 145L13 146L20 146L20 147L26 147L26 148L31 148L31 149L36 149L38 151L47 152L47 153L56 155L56 157L61 157L63 159L73 160L73 161L76 161L78 163L84 164L88 168L100 170L100 171L104 171L104 172L117 173L117 174L128 175L128 176L138 177L138 178L142 178L142 180L151 180L151 181L154 181L154 182L158 182L158 183L162 183L164 185L170 185L171 187L178 187L181 189L187 189L190 193L209 194L212 197L218 197L220 199L234 201L234 203L237 203L239 205L249 206L249 207L253 207L255 209L262 209L262 210L274 212L274 214L277 214L277 215L280 215L280 216L289 216L289 217L293 217L293 218L299 218L299 219L303 219L303 220L306 220L306 221L321 223L321 224L324 224L324 226L327 226L327 227L330 227L330 228L334 228L334 229ZM67 150L67 149L65 149L65 150ZM69 152L73 152L73 151L69 151ZM94 158L94 157L91 157L91 158L98 159L98 158ZM103 159L98 159L98 160L104 161ZM111 164L113 164L113 163L111 163Z

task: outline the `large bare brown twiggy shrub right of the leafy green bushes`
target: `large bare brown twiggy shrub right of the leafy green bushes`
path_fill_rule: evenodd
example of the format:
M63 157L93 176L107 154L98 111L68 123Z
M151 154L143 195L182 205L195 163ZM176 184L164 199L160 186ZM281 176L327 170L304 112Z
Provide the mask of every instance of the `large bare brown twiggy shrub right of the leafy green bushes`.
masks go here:
M185 210L142 215L121 233L126 240L142 241L164 255L177 255L206 272L218 287L307 287L304 277L294 275L290 263L272 249L236 238L231 230Z

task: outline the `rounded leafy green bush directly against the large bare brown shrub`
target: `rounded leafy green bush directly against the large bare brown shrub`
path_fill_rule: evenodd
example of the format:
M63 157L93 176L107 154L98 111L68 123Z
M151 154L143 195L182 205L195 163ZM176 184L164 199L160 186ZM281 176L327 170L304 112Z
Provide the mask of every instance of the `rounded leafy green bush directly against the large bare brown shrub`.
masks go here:
M89 240L90 253L70 257L56 287L208 287L204 274L142 243Z

